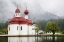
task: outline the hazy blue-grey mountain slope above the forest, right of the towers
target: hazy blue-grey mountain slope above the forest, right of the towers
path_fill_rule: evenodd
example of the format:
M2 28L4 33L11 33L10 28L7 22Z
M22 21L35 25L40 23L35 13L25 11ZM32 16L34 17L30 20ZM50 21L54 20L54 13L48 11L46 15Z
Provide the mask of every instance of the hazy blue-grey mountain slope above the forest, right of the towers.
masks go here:
M60 18L59 16L57 15L54 15L52 13L48 13L48 12L45 12L44 14L39 14L39 15L36 15L34 17L30 17L30 19L32 20L49 20L49 19L58 19Z

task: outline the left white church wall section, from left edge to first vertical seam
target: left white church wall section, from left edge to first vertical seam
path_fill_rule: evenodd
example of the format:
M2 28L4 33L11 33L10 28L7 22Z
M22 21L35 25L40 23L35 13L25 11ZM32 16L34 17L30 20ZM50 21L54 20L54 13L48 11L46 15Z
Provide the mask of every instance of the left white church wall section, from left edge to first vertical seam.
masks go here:
M17 30L18 26L18 30ZM10 30L9 30L10 27ZM8 25L8 35L19 35L19 24L10 24Z

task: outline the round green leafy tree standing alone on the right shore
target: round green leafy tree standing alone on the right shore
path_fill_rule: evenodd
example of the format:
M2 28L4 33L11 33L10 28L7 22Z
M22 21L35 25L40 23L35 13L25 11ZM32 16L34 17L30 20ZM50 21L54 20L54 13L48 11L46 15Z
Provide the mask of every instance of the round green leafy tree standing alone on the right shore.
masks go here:
M60 29L59 29L59 27L58 27L58 25L57 25L57 23L56 22L48 22L47 24L46 24L46 27L45 27L45 31L46 32L52 32L53 33L53 35L55 34L55 32L56 31L59 31Z

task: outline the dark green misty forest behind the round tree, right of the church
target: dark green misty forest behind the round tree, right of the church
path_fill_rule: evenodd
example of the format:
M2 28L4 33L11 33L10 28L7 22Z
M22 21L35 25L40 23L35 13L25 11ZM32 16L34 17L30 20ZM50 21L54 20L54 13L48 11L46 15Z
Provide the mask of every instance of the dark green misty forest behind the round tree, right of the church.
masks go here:
M47 22L52 22L55 21L57 23L57 25L59 26L60 30L63 31L64 30L64 19L50 19L50 20L39 20L36 23L38 23L41 26L42 30L45 30L46 24Z

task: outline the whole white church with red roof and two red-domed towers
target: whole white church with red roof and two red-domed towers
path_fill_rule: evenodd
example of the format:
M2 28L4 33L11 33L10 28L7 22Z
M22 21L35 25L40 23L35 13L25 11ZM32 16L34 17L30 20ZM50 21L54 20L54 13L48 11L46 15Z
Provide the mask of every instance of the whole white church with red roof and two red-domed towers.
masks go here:
M25 17L20 16L20 9L15 10L15 15L8 24L8 35L35 35L35 26L28 19L29 11L24 11Z

